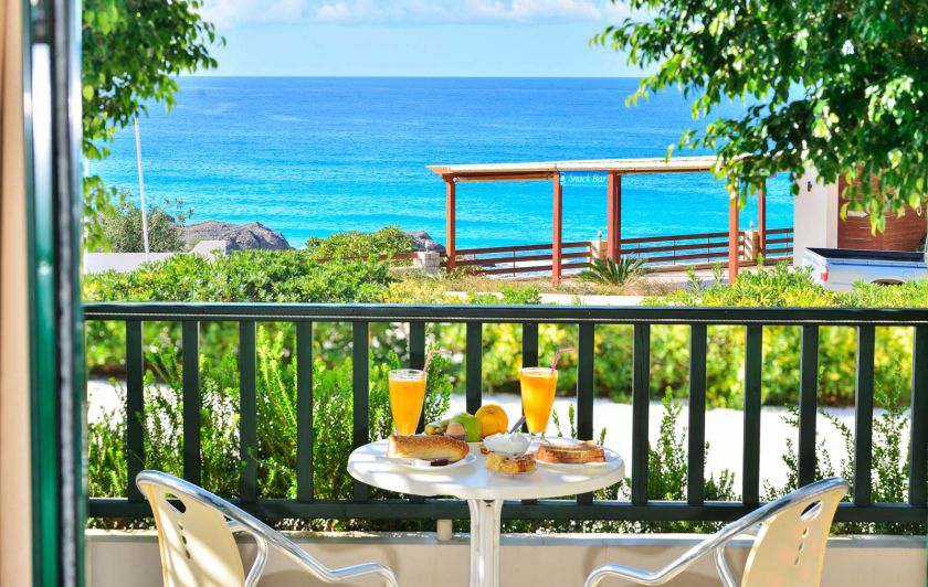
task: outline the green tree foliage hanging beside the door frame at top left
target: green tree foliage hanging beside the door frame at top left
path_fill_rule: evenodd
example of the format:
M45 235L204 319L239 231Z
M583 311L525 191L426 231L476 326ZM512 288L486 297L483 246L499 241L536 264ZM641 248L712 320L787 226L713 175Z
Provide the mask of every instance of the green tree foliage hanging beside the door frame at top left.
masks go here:
M151 102L171 108L175 77L215 67L210 46L223 43L200 15L201 0L85 0L83 3L84 157L104 159L116 130L148 111ZM84 179L84 218L92 248L103 242L101 213L116 190L99 175Z

